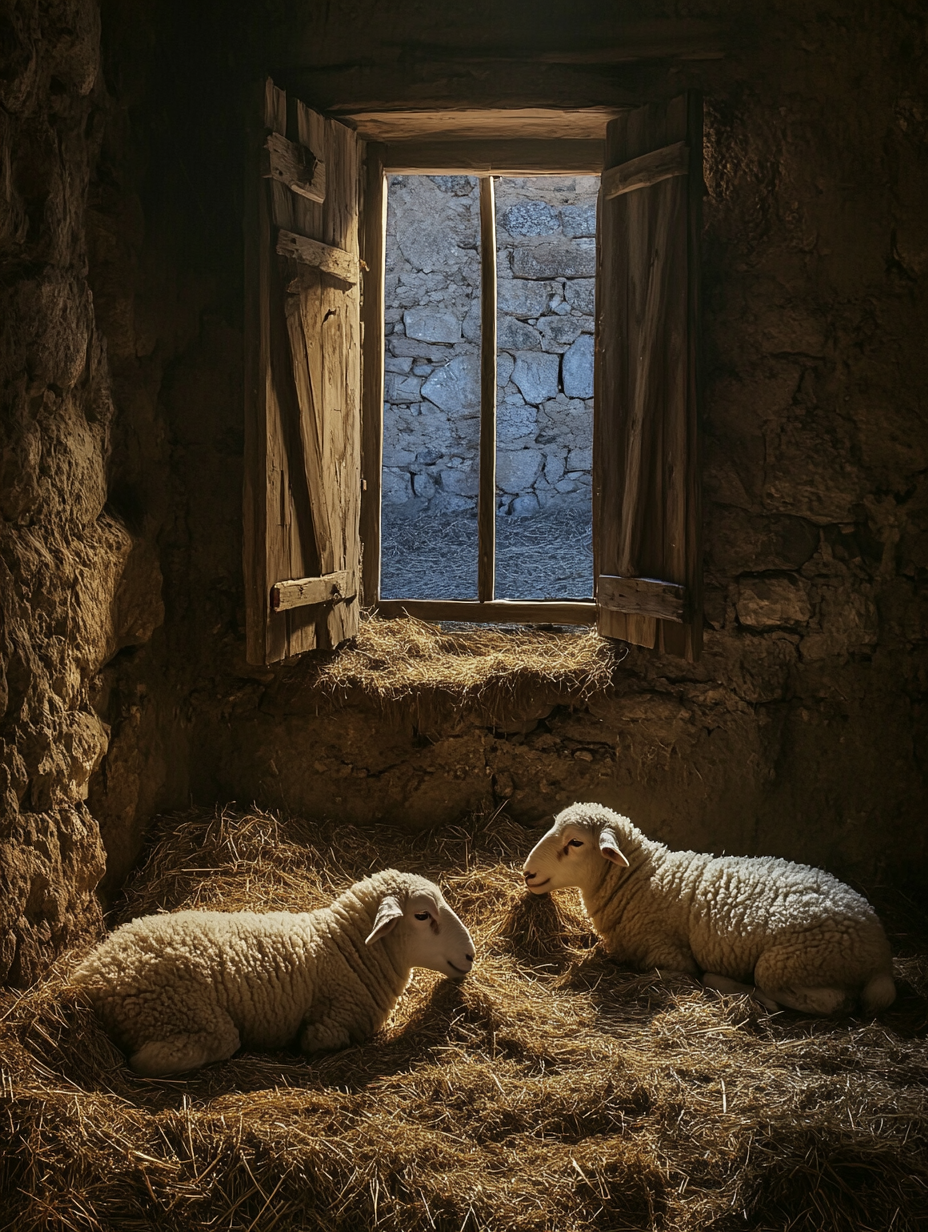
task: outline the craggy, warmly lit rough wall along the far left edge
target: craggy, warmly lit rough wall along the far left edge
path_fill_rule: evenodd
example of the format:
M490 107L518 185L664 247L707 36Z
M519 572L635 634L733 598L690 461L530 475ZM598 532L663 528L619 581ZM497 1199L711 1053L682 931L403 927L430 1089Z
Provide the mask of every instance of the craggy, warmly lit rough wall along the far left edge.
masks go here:
M27 981L99 925L104 849L85 801L108 728L94 694L157 615L138 601L143 547L106 506L113 402L85 241L97 10L14 6L2 34L0 976Z

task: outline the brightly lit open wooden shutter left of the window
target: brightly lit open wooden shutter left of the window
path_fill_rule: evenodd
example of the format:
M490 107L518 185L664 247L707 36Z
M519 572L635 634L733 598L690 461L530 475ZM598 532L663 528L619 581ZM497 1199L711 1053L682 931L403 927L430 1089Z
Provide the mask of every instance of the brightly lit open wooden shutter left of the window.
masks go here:
M359 139L267 80L245 196L248 658L357 632Z

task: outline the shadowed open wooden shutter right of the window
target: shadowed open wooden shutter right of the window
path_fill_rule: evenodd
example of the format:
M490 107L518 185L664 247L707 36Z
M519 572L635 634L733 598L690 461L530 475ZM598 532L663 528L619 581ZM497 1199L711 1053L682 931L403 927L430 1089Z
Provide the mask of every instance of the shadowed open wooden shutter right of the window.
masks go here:
M594 546L599 631L699 658L702 101L609 123L599 200Z

